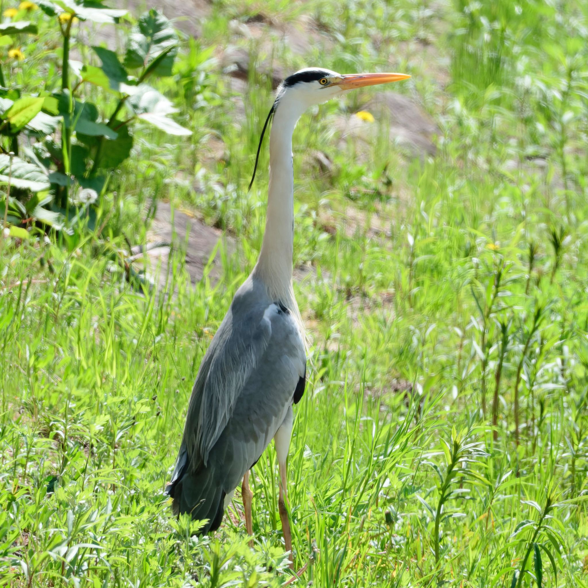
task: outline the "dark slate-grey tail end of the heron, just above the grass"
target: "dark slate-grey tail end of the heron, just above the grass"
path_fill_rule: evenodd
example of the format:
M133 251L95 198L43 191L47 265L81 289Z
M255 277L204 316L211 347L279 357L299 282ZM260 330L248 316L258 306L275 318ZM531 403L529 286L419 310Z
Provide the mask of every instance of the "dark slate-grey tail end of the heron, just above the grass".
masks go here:
M191 470L183 444L173 470L172 481L166 487L165 493L173 499L174 515L189 513L193 520L208 519L198 534L219 528L225 512L225 490L216 480L211 466L202 465L195 472Z

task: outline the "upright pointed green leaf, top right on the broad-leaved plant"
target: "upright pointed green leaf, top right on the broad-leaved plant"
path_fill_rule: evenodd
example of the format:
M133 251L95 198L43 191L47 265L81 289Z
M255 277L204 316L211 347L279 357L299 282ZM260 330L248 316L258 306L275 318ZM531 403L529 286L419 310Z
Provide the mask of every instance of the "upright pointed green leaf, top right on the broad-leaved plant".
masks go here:
M156 73L172 74L173 59L178 54L178 35L161 12L151 9L139 18L126 46L125 65L145 68L143 77Z

